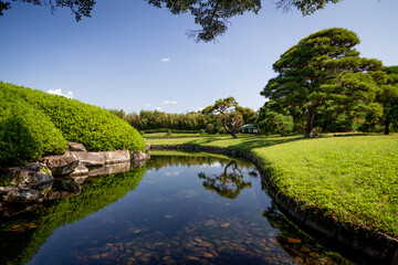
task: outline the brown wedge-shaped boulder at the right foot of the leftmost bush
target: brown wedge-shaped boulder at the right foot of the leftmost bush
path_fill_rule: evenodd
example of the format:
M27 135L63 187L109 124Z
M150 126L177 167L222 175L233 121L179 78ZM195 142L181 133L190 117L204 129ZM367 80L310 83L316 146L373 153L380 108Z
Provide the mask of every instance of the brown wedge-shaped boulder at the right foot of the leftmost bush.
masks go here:
M80 163L77 158L65 156L44 157L42 161L51 170L53 177L71 174Z

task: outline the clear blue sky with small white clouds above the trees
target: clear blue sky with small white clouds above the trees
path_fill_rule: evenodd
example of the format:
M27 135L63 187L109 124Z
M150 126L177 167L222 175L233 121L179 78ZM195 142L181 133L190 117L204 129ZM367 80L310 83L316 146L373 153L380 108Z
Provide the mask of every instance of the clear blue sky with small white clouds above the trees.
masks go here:
M69 9L13 2L0 17L0 81L125 112L195 112L228 96L256 110L280 55L333 26L358 34L362 56L398 65L397 0L345 0L308 17L274 2L233 18L216 44L185 35L197 29L189 14L144 0L98 0L78 23Z

